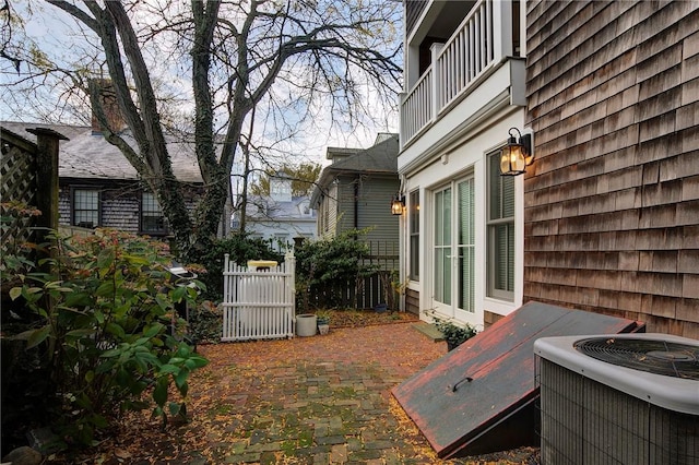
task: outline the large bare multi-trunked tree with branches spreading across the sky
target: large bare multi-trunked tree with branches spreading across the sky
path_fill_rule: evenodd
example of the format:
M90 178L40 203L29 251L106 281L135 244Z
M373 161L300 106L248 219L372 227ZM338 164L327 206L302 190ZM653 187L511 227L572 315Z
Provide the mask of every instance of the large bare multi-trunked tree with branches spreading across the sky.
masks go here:
M396 1L47 3L46 14L71 27L56 40L70 46L42 47L54 38L44 35L37 45L13 29L2 49L12 60L0 65L23 72L4 73L12 82L11 102L3 103L24 118L27 110L56 118L90 100L105 140L156 194L188 262L200 261L227 216L232 172L242 178L245 229L248 175L258 166L252 157L288 153L288 142L312 132L384 126L401 87ZM128 130L108 118L95 78L110 81ZM39 94L49 102L37 102ZM169 135L194 147L203 193L193 215L188 186L173 170Z

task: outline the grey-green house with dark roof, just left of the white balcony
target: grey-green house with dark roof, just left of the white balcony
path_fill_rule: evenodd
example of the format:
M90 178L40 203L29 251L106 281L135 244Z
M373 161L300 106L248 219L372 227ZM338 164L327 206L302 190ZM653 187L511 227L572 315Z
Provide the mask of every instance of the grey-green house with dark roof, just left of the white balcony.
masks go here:
M318 211L318 236L368 228L366 241L396 243L398 217L391 199L399 191L398 134L381 133L367 148L328 147L331 165L323 168L311 194Z

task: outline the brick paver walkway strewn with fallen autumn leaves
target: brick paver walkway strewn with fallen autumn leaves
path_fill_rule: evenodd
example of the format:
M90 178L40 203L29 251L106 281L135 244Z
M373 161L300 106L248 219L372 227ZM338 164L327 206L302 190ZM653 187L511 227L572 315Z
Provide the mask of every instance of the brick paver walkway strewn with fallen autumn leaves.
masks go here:
M447 351L413 324L200 346L211 363L190 378L191 421L158 431L141 414L103 463L469 463L439 461L390 394Z

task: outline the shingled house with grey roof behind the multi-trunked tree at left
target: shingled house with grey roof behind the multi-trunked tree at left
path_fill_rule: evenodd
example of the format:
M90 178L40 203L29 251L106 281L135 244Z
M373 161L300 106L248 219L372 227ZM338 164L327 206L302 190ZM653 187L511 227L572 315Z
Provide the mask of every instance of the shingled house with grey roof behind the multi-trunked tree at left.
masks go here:
M121 152L102 136L96 127L0 122L3 131L35 142L26 129L48 128L61 141L59 164L59 225L114 228L153 237L169 235L162 208ZM129 139L128 133L122 133ZM186 202L194 208L202 178L193 144L170 139L168 152L175 176L187 186Z

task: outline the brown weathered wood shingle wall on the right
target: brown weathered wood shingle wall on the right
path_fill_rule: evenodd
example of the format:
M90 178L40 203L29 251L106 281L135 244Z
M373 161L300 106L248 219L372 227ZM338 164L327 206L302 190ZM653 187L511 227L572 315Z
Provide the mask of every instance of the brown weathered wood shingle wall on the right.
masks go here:
M528 2L524 300L699 338L699 2Z

